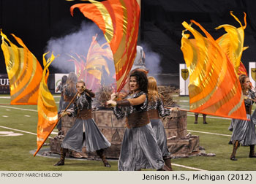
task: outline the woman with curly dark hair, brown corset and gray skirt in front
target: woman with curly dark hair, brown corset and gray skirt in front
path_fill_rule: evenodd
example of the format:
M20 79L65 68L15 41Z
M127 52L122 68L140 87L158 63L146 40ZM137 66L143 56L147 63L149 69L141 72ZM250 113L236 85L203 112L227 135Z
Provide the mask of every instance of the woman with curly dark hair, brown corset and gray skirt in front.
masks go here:
M154 168L170 170L162 159L162 152L148 118L148 80L146 74L133 72L129 77L131 93L121 101L107 101L117 118L127 117L118 170L135 171Z

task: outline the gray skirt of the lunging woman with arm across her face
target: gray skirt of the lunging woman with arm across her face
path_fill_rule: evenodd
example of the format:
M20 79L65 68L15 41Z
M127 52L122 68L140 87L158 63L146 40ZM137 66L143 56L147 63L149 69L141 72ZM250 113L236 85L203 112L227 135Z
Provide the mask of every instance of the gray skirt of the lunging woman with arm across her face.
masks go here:
M85 131L83 131L83 125ZM65 136L61 147L77 152L82 151L82 147L86 147L87 151L95 151L110 147L110 142L99 131L94 119L82 120L77 118Z

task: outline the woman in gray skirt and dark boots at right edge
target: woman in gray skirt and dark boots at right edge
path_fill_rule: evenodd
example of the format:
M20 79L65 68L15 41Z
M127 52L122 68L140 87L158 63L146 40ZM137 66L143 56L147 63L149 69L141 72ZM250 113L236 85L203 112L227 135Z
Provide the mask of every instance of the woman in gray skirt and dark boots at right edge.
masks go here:
M246 117L251 120L238 120L233 119L231 125L233 126L233 134L231 141L233 142L233 153L230 156L230 160L237 161L236 150L238 145L249 146L249 158L256 158L255 155L255 144L256 144L256 134L255 134L255 112L251 118L252 104L255 100L255 93L250 90L251 83L249 77L242 75L239 77L241 88L244 94L244 104L246 109Z

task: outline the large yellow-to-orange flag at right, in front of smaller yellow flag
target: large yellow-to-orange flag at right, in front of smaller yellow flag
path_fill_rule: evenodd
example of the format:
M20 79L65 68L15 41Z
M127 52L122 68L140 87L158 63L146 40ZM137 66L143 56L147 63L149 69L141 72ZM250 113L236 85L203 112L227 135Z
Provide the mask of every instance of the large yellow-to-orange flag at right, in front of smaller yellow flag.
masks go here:
M241 85L235 69L218 43L199 23L195 23L206 37L191 25L182 25L190 31L182 34L181 50L189 70L190 111L225 118L246 120Z

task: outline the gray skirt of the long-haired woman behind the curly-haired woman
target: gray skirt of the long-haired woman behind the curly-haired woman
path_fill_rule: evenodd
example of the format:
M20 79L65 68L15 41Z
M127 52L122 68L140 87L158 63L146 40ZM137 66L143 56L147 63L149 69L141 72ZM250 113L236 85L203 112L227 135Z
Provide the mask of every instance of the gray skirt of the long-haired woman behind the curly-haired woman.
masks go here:
M153 128L154 134L157 138L157 144L162 151L163 158L170 158L170 151L167 148L167 138L165 133L165 128L162 125L161 119L151 119L151 126Z

